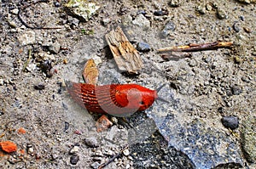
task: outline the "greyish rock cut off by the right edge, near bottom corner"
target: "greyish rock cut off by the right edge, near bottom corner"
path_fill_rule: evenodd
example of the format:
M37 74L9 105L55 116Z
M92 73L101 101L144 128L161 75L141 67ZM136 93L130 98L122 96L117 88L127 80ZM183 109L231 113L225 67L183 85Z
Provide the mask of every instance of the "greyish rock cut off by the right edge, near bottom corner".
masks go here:
M256 162L256 116L250 116L243 121L241 145L247 161Z

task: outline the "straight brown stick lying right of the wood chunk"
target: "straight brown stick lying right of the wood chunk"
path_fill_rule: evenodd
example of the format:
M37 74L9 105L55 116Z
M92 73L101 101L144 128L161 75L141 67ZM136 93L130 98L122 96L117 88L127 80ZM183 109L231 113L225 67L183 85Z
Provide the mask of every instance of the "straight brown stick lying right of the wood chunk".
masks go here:
M212 50L212 49L218 49L218 48L230 48L232 45L233 45L233 42L207 42L207 43L201 43L201 44L190 43L189 45L186 45L186 46L160 48L157 51L160 53L197 52L202 50Z

